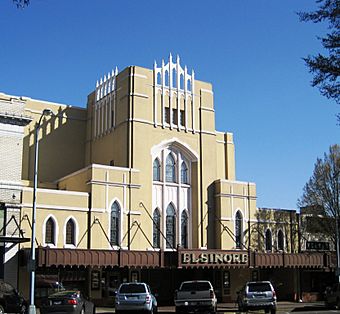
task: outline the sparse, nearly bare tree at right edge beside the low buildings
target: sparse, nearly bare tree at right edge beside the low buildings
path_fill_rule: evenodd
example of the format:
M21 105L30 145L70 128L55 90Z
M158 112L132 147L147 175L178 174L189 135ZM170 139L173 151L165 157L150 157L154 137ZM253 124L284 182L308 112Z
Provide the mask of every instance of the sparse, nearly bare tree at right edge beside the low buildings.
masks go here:
M340 145L333 145L324 159L318 158L313 175L303 189L303 195L298 201L300 208L313 215L310 223L315 230L323 230L324 234L336 241L335 223L340 217ZM331 220L329 220L331 218ZM325 227L325 222L327 222ZM319 227L318 227L319 225Z

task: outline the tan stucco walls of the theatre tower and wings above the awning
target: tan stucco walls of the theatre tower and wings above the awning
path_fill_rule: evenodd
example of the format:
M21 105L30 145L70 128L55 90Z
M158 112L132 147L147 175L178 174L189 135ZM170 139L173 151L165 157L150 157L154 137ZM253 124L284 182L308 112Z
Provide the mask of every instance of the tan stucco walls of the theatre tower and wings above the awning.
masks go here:
M178 78L178 87L178 82L166 85L168 72L164 69L177 66L179 74L173 71L169 82ZM248 221L255 220L257 211L256 186L236 181L233 134L215 129L212 85L194 79L193 72L189 75L181 71L180 64L172 60L163 65L163 70L156 65L153 70L128 67L113 74L110 81L106 77L98 83L86 109L26 99L25 111L33 118L25 128L22 171L27 186L22 213L28 218L35 122L46 108L56 114L42 119L39 134L39 244L45 245L44 223L52 215L58 226L56 247L64 245L65 220L74 217L79 237L87 232L89 223L97 222L91 228L91 237L75 246L111 248L107 241L110 212L117 201L121 209L120 247L153 249L150 216L157 206L164 217L169 203L176 211L175 246L181 245L182 210L188 213L189 248L234 249L231 234L235 232L238 210L243 217L244 245L248 245ZM163 75L163 82L156 81L156 73ZM184 76L188 84L183 83ZM108 86L109 82L112 85ZM163 152L185 160L188 182L182 184L179 180L179 159L175 160L174 182L153 181L153 162L160 156L165 158ZM165 163L161 160L162 172ZM231 233L226 233L226 228ZM23 222L23 229L29 235L29 220ZM164 222L164 234L165 229ZM165 248L161 242L160 248Z

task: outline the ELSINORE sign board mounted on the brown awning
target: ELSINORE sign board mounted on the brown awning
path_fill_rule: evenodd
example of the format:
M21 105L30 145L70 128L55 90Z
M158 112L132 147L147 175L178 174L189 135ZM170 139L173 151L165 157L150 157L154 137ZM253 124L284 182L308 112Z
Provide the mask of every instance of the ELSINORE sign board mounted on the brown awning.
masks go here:
M181 266L223 266L248 264L248 252L238 251L179 251Z

